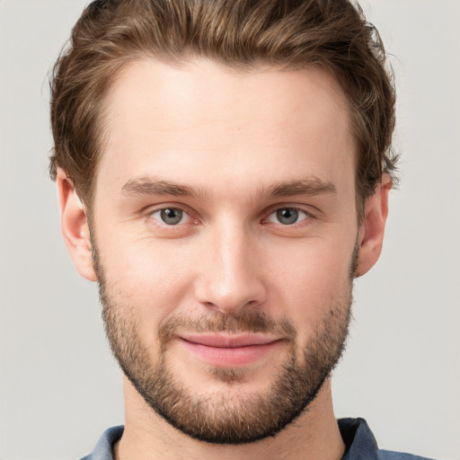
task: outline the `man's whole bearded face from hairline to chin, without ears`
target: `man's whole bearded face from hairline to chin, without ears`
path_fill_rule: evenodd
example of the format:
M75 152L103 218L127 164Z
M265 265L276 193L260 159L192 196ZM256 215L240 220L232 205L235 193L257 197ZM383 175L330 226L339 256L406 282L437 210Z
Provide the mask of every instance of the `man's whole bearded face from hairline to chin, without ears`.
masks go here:
M111 347L191 437L275 434L341 356L355 144L321 69L128 66L109 94L92 243Z

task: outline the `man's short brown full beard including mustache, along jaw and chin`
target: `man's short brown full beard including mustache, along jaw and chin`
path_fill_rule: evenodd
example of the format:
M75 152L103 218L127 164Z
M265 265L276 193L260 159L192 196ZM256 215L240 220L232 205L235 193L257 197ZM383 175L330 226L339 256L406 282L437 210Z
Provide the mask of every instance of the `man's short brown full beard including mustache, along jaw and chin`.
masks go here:
M357 253L355 248L351 273L356 268ZM325 309L302 349L296 345L296 327L288 319L274 320L261 310L243 308L240 314L209 312L198 318L168 317L158 326L159 358L154 362L139 337L135 306L117 298L94 245L93 262L105 331L119 366L147 405L191 438L213 444L243 444L275 436L307 410L345 349L352 276L339 301ZM168 345L178 332L274 333L282 337L288 352L264 393L238 394L237 398L226 390L199 394L174 375L173 363L167 359ZM244 368L208 367L208 372L228 389L251 378Z

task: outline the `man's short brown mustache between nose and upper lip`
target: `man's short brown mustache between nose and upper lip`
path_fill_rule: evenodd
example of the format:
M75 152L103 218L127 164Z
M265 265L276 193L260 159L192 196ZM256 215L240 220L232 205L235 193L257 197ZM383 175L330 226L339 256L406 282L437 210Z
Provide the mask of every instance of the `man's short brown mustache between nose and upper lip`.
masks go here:
M158 341L165 344L178 332L265 332L288 341L296 339L296 328L287 319L274 320L259 310L243 311L239 314L214 312L193 318L176 315L166 318L158 327Z

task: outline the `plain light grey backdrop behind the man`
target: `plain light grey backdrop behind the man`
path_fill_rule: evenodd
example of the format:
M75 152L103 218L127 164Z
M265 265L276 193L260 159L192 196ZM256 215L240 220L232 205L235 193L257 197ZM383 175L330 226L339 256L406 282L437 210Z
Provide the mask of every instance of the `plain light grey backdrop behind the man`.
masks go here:
M93 284L59 232L47 174L49 69L86 2L0 0L0 458L77 459L123 422ZM397 76L400 190L356 283L338 417L381 447L460 458L460 2L367 0Z

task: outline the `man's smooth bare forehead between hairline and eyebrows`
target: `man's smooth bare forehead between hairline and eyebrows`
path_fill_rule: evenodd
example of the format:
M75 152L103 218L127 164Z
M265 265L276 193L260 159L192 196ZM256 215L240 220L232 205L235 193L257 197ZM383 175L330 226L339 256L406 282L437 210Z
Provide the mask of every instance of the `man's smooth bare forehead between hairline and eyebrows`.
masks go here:
M354 181L347 102L318 67L240 71L208 60L144 59L119 74L104 117L96 194L101 181L122 187L148 174L246 192L304 175L338 181L346 172Z

